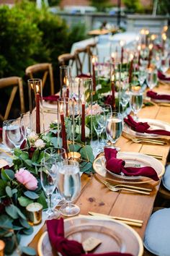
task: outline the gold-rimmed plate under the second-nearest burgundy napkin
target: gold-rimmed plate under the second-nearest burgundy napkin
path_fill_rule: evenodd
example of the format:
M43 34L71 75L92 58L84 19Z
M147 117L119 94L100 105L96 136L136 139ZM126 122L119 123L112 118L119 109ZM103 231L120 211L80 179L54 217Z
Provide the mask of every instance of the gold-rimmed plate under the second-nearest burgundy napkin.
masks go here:
M144 155L135 152L118 152L117 158L125 160L126 167L151 166L155 169L159 179L161 178L165 171L164 165L156 158L153 158L150 155ZM105 179L110 179L111 181L114 182L133 184L155 182L153 181L153 179L150 179L146 176L123 176L120 174L111 173L110 171L107 171L107 169L105 168L105 161L106 159L103 154L99 155L99 157L97 157L93 163L94 171ZM158 182L155 182L155 184L157 183Z

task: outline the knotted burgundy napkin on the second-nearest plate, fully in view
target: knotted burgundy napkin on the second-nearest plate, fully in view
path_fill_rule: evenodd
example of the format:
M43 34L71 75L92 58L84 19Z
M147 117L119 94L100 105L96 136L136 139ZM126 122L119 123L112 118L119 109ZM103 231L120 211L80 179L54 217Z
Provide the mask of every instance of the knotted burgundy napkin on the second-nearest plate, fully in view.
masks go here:
M154 181L158 181L158 175L151 166L145 167L125 167L125 161L117 158L117 150L114 148L104 148L106 158L106 168L115 174L121 172L126 176L146 176Z

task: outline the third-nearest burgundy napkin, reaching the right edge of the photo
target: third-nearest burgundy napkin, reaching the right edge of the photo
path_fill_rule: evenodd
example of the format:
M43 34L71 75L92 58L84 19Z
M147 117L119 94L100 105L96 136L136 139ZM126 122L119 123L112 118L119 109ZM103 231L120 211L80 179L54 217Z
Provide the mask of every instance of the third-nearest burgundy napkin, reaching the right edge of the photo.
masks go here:
M141 132L141 133L148 133L148 134L154 134L154 135L166 135L170 136L170 132L166 131L164 129L149 129L150 125L148 125L147 122L142 121L135 121L133 120L133 117L128 115L128 118L124 119L125 123L128 124L135 132Z

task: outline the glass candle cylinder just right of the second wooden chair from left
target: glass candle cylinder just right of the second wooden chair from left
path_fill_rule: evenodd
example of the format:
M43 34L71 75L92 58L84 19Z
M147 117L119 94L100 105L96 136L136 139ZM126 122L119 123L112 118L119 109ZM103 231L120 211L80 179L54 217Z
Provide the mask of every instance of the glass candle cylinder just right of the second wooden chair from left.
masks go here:
M61 81L61 97L69 98L72 93L71 88L71 67L60 67L60 81Z

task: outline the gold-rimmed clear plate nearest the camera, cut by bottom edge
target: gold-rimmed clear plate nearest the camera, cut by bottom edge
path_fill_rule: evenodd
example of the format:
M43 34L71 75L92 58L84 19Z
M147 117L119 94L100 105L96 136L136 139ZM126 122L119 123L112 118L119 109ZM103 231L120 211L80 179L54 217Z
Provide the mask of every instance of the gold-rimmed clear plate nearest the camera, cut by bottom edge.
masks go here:
M102 240L102 244L94 249L94 255L102 252L128 252L134 256L143 255L143 242L138 233L120 221L77 216L65 219L64 229L66 238L81 243L90 236ZM40 237L37 251L40 256L56 255L50 245L47 231Z

